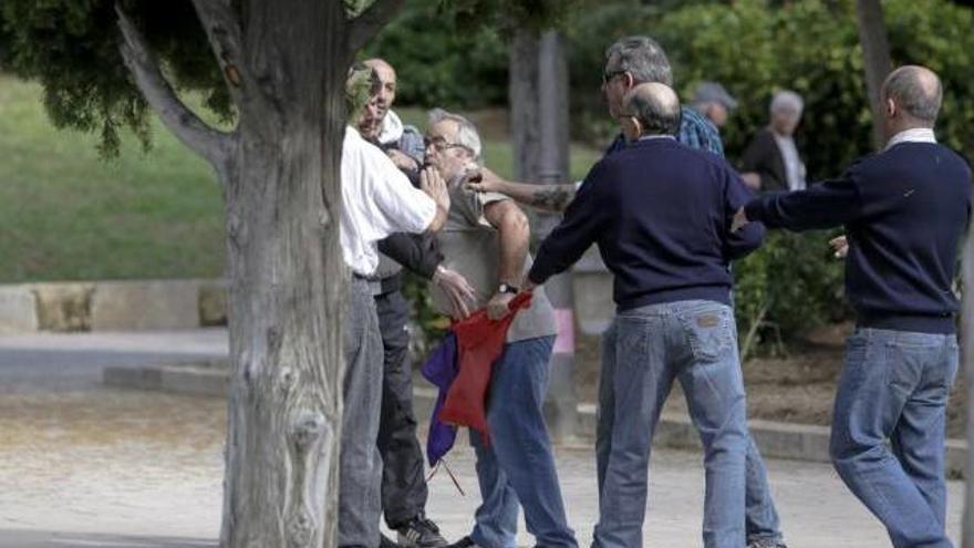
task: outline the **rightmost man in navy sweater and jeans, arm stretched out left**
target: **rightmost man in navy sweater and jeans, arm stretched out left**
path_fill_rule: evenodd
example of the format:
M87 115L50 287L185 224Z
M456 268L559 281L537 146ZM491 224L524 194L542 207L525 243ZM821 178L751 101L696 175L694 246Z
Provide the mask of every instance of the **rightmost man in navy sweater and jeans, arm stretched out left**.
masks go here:
M952 546L944 534L944 410L957 372L951 283L971 213L971 168L934 138L942 95L932 71L898 69L882 87L885 149L838 179L752 201L735 219L735 227L846 227L846 294L858 321L830 453L897 547Z

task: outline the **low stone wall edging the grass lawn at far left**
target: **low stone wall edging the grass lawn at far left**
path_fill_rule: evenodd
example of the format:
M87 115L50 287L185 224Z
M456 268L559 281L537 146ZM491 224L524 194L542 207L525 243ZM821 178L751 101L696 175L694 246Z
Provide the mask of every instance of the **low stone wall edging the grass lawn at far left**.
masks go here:
M226 325L220 279L0 286L0 332L138 331Z

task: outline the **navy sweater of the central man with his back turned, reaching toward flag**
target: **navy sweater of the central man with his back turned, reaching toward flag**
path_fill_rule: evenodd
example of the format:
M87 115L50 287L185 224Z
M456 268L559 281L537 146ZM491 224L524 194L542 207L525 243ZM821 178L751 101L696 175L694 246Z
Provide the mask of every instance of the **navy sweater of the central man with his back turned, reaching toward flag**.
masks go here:
M619 310L682 300L731 303L728 262L760 245L764 228L732 234L753 194L721 157L650 138L592 167L528 275L543 283L599 244L615 275Z

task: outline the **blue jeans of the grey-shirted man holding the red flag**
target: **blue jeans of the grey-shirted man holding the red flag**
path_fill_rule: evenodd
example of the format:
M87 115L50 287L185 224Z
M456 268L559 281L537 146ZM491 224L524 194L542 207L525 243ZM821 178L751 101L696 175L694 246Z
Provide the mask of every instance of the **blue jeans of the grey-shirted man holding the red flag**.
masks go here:
M490 444L470 432L483 503L470 538L485 548L514 548L518 504L538 546L577 548L568 527L545 424L548 360L555 337L505 345L494 364L487 425Z

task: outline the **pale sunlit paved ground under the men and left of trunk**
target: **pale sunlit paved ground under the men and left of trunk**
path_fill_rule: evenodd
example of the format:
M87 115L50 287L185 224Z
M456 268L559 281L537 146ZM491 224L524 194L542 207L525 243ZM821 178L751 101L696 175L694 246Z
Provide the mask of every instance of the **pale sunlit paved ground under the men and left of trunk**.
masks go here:
M216 545L222 401L107 390L89 381L92 371L116 354L219 354L225 352L222 335L106 337L52 337L44 339L52 343L44 348L0 338L0 386L9 387L9 380L18 379L30 389L0 390L0 548ZM59 365L50 365L44 354L60 360ZM38 358L24 359L29 355ZM79 356L76 364L72 355ZM62 375L73 380L63 381ZM439 473L431 482L428 505L428 514L450 538L469 530L478 500L472 452L465 441L454 451L453 468L467 496L459 496ZM563 447L558 462L570 519L586 546L597 516L592 449ZM890 546L879 524L829 466L786 461L768 465L792 548ZM645 545L700 546L700 455L655 452L651 482ZM954 538L961 503L962 484L952 482L949 521ZM521 534L519 544L531 546L531 539Z

